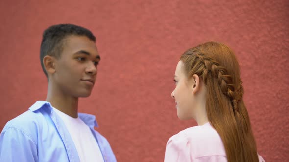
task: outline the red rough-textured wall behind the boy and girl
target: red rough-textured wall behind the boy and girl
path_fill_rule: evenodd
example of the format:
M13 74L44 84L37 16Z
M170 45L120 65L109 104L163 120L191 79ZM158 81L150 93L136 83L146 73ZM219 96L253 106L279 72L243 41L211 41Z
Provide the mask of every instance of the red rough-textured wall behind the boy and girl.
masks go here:
M239 58L259 154L289 161L289 1L226 1L1 0L0 130L45 100L43 30L75 23L95 33L102 58L80 111L96 115L119 162L162 162L169 137L196 125L178 120L170 93L180 54L204 41Z

